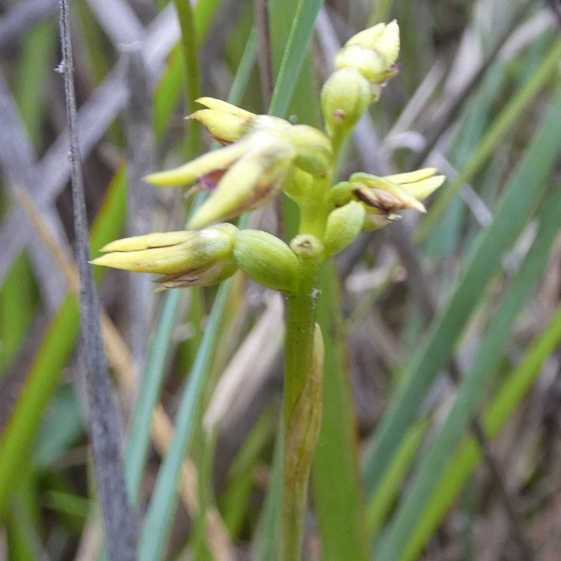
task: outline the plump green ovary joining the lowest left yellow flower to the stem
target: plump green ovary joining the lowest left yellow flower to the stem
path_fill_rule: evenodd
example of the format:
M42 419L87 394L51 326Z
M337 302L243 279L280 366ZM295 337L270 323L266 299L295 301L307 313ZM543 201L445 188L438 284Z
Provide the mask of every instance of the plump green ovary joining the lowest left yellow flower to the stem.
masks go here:
M295 289L298 258L285 242L262 230L239 230L234 236L234 259L255 282L269 289Z

